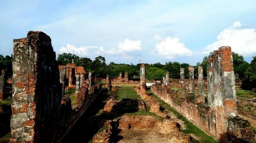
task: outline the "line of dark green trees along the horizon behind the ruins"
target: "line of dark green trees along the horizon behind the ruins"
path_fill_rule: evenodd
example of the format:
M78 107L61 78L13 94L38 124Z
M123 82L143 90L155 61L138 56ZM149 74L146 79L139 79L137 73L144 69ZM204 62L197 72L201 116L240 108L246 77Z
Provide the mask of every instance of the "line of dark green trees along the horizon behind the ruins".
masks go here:
M211 55L211 53L210 53ZM202 62L198 62L194 66L195 71L194 75L197 78L198 76L198 66L203 67L204 76L207 76L207 60L209 56L205 56ZM256 82L256 56L253 57L251 63L244 61L242 55L232 52L233 58L233 67L234 74L237 79ZM77 66L82 66L86 71L94 71L97 78L105 78L108 74L110 77L115 78L119 73L124 74L125 72L129 73L129 77L138 78L140 64L133 65L131 64L116 64L111 62L110 64L105 63L105 58L103 56L98 56L94 60L90 58L79 57L71 53L62 53L57 56L57 63L59 65L67 65L72 63L72 59ZM185 77L188 78L188 67L187 63L179 62L166 62L165 64L155 63L155 64L146 64L146 78L149 80L159 80L165 76L165 73L169 71L169 77L171 78L180 78L180 68L185 69ZM12 56L6 55L3 56L0 54L0 69L6 69L7 75L12 75Z

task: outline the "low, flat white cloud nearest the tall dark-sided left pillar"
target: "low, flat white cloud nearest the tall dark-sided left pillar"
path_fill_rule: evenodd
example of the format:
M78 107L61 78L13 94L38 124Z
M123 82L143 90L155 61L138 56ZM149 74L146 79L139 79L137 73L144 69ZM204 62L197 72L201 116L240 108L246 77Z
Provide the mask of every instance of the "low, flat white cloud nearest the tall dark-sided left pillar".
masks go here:
M66 47L61 47L59 49L60 53L72 53L76 54L78 56L97 56L105 53L105 49L101 47L96 47L96 46L81 46L81 47L76 47L72 44L67 44Z

